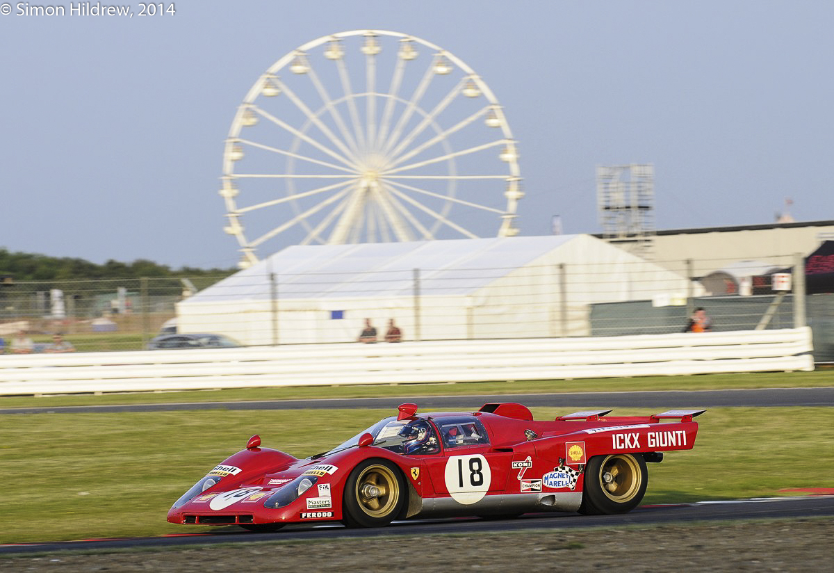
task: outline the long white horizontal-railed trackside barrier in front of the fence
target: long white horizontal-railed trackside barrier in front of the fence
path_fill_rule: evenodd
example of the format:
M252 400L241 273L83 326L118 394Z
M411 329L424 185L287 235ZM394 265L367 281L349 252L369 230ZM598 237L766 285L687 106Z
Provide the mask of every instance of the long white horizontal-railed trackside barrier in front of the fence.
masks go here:
M811 329L0 356L0 395L812 370Z

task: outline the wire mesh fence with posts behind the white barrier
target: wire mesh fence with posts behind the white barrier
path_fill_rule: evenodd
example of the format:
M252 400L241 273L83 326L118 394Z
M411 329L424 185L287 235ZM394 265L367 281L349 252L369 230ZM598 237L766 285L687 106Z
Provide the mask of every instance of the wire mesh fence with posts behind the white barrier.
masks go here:
M773 269L801 269L796 256L761 260ZM711 266L731 263L715 259ZM366 319L380 342L389 320L401 329L404 342L666 334L681 332L692 310L704 307L716 331L809 324L817 359L834 359L834 295L814 295L806 302L801 273L793 274L796 297L772 291L762 275L741 277L736 294L711 295L703 288L705 277L669 270L692 268L691 261L534 261L479 269L450 264L380 270L373 276L274 269L222 281L31 281L0 287L0 337L7 349L18 330L28 333L37 350L58 332L79 351L144 349L174 318L180 332L227 334L244 345L354 341Z

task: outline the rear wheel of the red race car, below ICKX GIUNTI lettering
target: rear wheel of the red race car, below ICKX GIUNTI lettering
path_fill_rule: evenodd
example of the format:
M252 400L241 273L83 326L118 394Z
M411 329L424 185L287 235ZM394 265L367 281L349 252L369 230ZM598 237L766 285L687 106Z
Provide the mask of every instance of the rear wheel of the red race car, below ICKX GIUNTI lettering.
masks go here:
M627 513L643 500L649 485L640 454L595 455L585 466L582 505L585 515Z

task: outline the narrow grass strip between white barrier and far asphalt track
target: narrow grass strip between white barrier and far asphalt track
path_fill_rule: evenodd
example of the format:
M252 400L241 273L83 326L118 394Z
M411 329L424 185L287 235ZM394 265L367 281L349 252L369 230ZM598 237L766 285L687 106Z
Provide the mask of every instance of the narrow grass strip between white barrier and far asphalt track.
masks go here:
M472 394L541 394L550 392L625 392L633 390L718 390L726 388L799 388L834 386L834 369L814 372L761 372L646 376L532 382L474 382L461 384L407 384L359 386L296 386L240 390L191 390L105 395L4 396L0 408L75 405L160 404L244 400L304 400L327 398L379 398Z

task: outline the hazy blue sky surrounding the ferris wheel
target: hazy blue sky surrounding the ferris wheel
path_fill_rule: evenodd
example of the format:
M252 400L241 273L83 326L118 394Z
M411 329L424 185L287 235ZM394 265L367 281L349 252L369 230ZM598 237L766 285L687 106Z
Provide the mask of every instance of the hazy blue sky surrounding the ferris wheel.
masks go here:
M555 214L565 233L600 232L599 164L655 165L658 229L766 224L786 197L796 220L834 219L823 0L180 0L144 18L16 4L0 16L0 247L13 251L233 266L218 190L237 107L284 54L355 29L435 43L490 86L520 150L521 234L549 234Z

